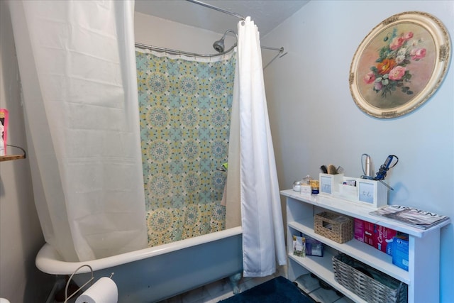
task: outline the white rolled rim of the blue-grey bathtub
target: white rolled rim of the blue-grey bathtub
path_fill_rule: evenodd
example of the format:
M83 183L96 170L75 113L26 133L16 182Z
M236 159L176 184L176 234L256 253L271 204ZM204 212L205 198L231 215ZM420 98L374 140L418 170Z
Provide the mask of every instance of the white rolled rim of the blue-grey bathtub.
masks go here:
M151 248L143 248L135 250L129 253L122 253L120 255L114 255L111 257L101 258L97 260L81 261L81 262L65 262L57 251L45 243L44 246L38 252L35 258L36 267L42 272L46 272L51 275L71 275L77 268L82 265L90 265L94 271L104 270L106 268L113 268L117 265L131 263L146 258L152 258L156 255L162 255L165 253L171 253L175 250L189 248L212 241L221 240L231 236L237 236L242 233L241 226L228 228L224 231L216 231L214 233L208 233L206 235L197 236L194 238L187 238L181 241L162 244ZM77 270L77 273L90 272L87 266Z

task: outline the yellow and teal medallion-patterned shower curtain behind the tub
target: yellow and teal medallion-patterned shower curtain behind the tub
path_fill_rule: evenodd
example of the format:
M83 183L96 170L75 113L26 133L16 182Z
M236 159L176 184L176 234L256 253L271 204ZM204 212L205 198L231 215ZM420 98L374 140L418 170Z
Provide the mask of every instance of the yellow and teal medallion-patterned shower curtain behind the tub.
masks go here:
M197 62L136 49L148 245L225 228L221 198L236 57Z

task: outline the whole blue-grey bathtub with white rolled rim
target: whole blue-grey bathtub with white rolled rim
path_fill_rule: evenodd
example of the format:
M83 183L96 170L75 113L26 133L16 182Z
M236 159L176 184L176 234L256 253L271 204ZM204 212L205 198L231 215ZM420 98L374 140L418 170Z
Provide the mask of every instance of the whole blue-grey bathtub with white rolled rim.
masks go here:
M114 272L112 280L118 287L118 303L159 302L224 277L240 277L242 231L238 226L87 262L62 261L46 243L35 263L39 270L52 275L71 275L88 264L94 270L94 281ZM77 285L89 280L89 271L87 266L80 268L73 277Z

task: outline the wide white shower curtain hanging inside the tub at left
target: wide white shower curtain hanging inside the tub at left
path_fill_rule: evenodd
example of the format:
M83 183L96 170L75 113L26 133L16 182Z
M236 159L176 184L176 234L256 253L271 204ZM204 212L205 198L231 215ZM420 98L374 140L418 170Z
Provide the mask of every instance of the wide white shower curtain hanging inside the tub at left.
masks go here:
M133 1L9 1L35 205L65 260L145 248Z

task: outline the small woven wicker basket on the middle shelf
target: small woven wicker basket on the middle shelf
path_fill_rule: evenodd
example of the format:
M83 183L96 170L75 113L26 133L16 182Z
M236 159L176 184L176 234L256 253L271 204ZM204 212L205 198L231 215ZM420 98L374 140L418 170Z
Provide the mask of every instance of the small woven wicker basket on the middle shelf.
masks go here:
M341 214L323 211L314 217L314 231L325 238L342 244L353 239L353 219Z

